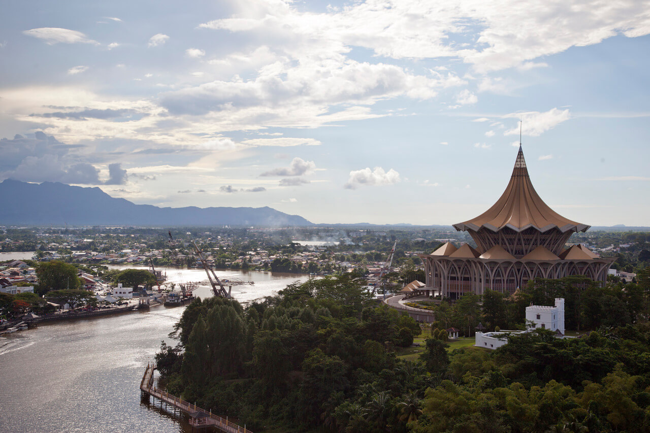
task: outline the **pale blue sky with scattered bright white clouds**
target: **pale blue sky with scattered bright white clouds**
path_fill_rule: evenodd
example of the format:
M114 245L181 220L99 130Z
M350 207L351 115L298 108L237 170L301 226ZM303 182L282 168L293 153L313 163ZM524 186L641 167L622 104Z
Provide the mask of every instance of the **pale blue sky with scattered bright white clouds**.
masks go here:
M315 223L650 226L650 1L3 2L0 180ZM36 209L38 207L36 206Z

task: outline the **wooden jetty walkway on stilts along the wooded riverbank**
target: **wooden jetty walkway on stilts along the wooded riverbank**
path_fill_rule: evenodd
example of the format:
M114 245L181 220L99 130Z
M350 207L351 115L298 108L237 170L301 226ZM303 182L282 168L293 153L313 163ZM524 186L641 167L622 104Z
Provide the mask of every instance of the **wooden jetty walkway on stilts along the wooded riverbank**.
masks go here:
M227 417L222 418L218 415L214 415L212 410L209 412L201 409L196 406L196 403L192 404L183 399L179 399L170 393L158 389L153 384L153 371L155 370L154 364L147 364L147 369L144 371L142 376L142 381L140 382L140 391L142 395L153 397L153 402L155 399L159 399L165 404L171 404L175 408L182 410L183 412L190 415L190 425L192 427L203 428L208 426L213 426L219 430L227 433L253 433L250 430L246 430L246 426L239 426L231 421L228 421Z

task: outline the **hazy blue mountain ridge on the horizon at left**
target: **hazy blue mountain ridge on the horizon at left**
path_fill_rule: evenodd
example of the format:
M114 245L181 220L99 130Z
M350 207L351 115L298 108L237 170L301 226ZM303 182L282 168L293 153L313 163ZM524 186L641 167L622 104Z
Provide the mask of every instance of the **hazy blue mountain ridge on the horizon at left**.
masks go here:
M270 207L157 207L113 198L98 187L63 183L0 183L0 224L49 226L313 226Z

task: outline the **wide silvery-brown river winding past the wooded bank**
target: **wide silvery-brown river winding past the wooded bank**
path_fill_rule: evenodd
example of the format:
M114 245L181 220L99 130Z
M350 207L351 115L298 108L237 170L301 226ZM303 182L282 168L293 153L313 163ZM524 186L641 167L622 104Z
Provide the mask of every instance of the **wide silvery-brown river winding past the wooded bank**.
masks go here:
M125 267L125 266L124 266ZM207 280L203 270L162 268L170 281ZM202 274L201 274L202 273ZM254 285L233 287L240 302L272 295L307 276L218 271ZM196 295L210 295L199 287ZM190 432L183 419L140 402L140 379L183 307L51 322L0 339L0 432ZM224 414L225 415L225 414Z

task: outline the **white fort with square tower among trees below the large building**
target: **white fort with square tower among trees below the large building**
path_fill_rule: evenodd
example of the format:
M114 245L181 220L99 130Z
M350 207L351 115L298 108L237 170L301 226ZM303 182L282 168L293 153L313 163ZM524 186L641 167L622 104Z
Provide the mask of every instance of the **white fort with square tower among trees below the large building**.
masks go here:
M532 305L526 307L526 330L498 332L476 332L476 347L495 349L508 344L508 335L525 334L534 329L560 331L564 336L564 298L555 298L554 306Z

